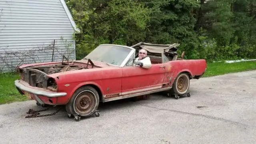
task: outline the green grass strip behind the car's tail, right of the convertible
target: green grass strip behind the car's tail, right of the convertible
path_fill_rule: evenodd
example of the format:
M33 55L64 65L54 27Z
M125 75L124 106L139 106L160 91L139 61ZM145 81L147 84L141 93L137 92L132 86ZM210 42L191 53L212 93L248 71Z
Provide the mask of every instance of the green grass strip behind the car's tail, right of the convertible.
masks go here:
M256 61L235 63L214 62L207 64L207 70L203 77L218 76L248 70L256 70Z

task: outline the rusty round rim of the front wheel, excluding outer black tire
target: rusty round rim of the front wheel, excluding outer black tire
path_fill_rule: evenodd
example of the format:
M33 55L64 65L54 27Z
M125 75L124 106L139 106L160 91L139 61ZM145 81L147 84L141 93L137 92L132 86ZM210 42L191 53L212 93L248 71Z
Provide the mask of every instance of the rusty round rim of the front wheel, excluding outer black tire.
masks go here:
M80 93L79 96L76 98L75 104L76 111L79 114L87 114L92 112L96 104L94 94L90 92Z

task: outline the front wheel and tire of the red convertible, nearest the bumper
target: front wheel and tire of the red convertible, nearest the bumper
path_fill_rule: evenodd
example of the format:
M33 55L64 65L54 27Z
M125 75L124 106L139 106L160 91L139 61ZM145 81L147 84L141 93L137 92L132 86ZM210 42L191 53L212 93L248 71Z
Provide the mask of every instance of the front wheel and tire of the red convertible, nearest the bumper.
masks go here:
M90 116L98 109L99 95L91 86L84 86L74 92L70 102L66 105L69 114Z

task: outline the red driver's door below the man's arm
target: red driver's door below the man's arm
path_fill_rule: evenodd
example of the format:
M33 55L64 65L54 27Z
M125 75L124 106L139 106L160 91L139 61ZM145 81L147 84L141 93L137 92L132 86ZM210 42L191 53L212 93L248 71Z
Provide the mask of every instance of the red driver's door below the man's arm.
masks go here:
M166 76L166 63L152 64L149 69L126 66L122 68L122 95L162 88Z

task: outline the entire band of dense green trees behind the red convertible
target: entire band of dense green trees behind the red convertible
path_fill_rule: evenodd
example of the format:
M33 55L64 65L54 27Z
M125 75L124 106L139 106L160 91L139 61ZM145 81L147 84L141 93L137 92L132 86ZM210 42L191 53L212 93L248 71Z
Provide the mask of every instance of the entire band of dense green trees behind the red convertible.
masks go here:
M186 59L256 58L256 0L66 0L76 57L99 44L180 43Z

